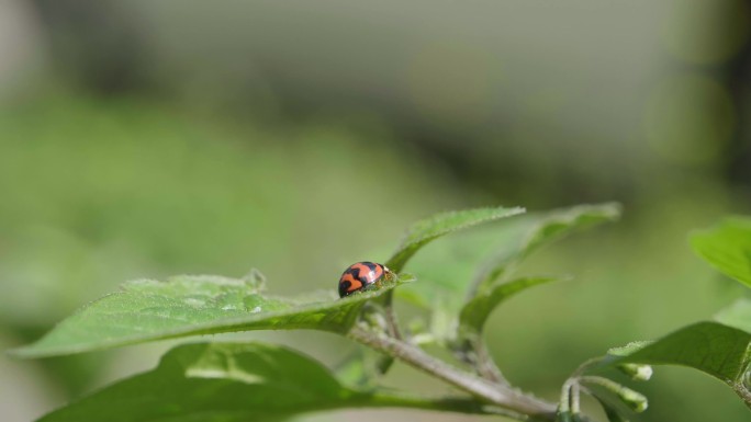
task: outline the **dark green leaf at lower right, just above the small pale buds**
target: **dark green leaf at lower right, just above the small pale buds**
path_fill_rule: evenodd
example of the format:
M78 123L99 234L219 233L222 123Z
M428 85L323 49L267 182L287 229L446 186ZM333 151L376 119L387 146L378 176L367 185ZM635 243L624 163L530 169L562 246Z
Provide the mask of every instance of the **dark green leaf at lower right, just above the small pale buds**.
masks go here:
M630 362L688 366L737 386L749 368L750 346L748 332L717 322L698 322L630 351L616 350L621 355L608 365Z

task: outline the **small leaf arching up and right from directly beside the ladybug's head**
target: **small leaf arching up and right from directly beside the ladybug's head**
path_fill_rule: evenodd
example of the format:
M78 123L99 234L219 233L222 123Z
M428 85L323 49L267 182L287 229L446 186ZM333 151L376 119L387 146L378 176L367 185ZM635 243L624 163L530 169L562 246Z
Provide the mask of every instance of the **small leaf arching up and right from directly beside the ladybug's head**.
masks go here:
M407 230L402 244L386 261L386 266L399 273L419 248L444 235L477 226L481 223L523 214L524 212L525 209L519 207L474 208L441 213L417 221Z

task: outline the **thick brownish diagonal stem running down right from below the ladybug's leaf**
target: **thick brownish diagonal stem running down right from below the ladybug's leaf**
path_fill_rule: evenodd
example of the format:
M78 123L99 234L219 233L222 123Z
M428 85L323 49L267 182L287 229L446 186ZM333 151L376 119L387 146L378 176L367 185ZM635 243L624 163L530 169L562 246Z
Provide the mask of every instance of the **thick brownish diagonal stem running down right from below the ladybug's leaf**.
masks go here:
M489 403L520 413L530 419L556 420L554 404L524 395L507 386L494 384L459 370L444 361L430 356L422 349L401 340L383 333L374 333L359 326L354 327L349 331L349 338L403 361L436 378L442 379Z

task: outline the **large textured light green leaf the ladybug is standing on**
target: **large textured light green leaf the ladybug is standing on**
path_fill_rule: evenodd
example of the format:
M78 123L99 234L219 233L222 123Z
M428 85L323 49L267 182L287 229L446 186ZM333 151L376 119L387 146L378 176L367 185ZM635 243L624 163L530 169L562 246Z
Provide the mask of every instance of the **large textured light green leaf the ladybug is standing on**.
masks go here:
M130 282L63 320L37 342L11 351L20 357L89 352L195 334L310 329L345 333L367 300L410 277L345 299L265 296L257 280L176 276Z

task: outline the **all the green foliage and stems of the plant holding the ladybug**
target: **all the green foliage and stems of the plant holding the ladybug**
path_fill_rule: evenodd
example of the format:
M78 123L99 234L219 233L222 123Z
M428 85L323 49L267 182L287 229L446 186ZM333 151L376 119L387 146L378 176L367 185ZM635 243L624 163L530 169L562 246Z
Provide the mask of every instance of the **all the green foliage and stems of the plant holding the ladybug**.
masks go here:
M740 299L715 321L679 329L652 342L613 349L584 363L561 388L558 403L526 395L495 366L482 340L490 315L529 287L565 277L519 276L518 265L545 244L594 225L615 220L616 204L587 205L511 218L498 233L503 247L491 253L474 277L449 285L412 289L405 298L429 309L429 338L452 352L469 370L427 354L417 332L403 337L391 305L395 289L413 277L402 271L430 241L480 224L506 219L523 208L478 208L438 214L413 225L385 262L396 274L377 289L344 299L334 292L285 298L269 295L257 271L244 278L176 276L164 282L134 281L63 320L37 342L11 351L19 357L82 353L161 339L250 330L321 330L361 343L388 358L401 360L461 395L418 397L378 386L354 387L343 374L362 378L367 358L356 353L338 374L299 352L255 342L179 345L149 372L120 380L43 417L42 421L247 421L284 420L298 413L355 407L403 407L478 414L503 414L529 421L587 421L580 396L592 395L610 422L647 409L647 398L598 375L617 367L634 379L648 379L648 365L681 365L702 370L728 386L751 406L751 300ZM498 225L486 225L487 231ZM505 235L504 235L505 236ZM713 266L751 286L751 219L727 219L692 237L697 253ZM419 275L419 274L418 274ZM423 294L421 294L423 292ZM442 323L436 322L442 319ZM437 327L437 329L436 329ZM429 342L430 340L427 340ZM360 351L361 352L361 351ZM352 376L350 376L351 378ZM361 379L360 379L361 380Z

